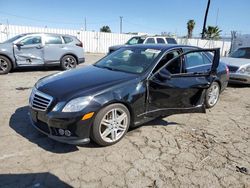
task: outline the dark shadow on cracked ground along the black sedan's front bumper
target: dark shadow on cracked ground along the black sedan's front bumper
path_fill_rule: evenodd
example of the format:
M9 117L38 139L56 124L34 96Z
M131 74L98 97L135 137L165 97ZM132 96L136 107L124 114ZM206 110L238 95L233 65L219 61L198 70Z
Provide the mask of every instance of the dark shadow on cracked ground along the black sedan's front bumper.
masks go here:
M9 126L19 135L23 136L30 142L53 153L70 153L78 151L77 146L63 144L48 138L46 135L37 131L30 123L28 116L29 107L24 106L16 109L12 114Z

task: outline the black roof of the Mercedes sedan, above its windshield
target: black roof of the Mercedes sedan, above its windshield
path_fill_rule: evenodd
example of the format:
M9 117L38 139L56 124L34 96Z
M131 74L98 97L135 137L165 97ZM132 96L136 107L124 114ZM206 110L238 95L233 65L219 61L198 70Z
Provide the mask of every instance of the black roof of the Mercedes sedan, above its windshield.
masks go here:
M155 50L166 51L174 48L186 48L186 47L198 49L197 46L179 45L179 44L133 44L126 46L125 48L150 48Z

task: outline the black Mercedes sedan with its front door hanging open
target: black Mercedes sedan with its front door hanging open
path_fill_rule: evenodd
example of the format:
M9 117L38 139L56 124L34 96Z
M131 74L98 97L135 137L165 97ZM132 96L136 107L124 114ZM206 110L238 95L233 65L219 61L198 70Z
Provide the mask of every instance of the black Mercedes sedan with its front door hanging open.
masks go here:
M204 113L228 82L219 49L133 45L97 63L40 79L30 95L34 127L69 144L112 145L134 127Z

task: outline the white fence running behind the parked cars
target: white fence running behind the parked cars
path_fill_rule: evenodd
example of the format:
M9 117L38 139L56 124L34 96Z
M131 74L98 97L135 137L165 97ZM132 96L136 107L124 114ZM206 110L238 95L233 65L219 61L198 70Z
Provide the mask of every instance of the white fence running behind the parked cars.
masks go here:
M92 53L107 53L108 48L113 45L124 44L133 35L117 34L117 33L102 33L92 31L82 31L76 29L56 29L56 28L42 28L42 27L30 27L30 26L17 26L17 25L0 25L0 42L11 38L21 33L59 33L69 34L76 36L83 43L83 47L86 52ZM229 41L213 41L213 40L201 40L201 39L186 39L178 38L179 44L199 46L201 48L221 48L221 55L225 55L229 52L231 42Z

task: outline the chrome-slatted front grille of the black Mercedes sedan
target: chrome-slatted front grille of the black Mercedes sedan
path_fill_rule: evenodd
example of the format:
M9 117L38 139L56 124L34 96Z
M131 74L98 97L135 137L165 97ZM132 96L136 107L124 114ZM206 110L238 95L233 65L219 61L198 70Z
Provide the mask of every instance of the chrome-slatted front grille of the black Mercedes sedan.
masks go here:
M39 111L46 111L50 106L53 97L38 91L37 89L33 89L30 96L30 105L33 109Z

